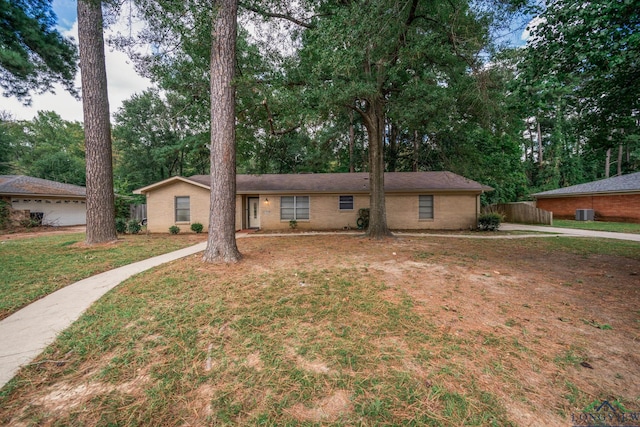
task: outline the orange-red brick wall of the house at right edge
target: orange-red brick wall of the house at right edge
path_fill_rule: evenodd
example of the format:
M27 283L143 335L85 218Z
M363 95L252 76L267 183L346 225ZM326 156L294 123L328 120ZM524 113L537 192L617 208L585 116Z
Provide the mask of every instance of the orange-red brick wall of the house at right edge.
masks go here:
M596 220L640 223L640 194L540 198L536 206L556 219L575 219L577 209L593 209Z

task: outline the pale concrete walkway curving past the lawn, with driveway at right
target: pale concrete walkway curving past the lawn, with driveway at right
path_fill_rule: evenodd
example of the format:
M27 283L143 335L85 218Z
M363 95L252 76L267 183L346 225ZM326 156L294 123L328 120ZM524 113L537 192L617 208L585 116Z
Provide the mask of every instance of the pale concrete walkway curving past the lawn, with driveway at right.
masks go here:
M503 224L501 230L536 231L551 234L500 235L499 233L478 233L477 235L397 233L397 236L438 236L458 238L532 238L560 235L622 239L640 242L639 234L609 233L600 231L574 230L567 228ZM238 235L241 237L295 237L301 235L323 235L336 233L301 234L261 234ZM343 233L340 233L343 234ZM361 233L350 233L361 234ZM131 276L150 268L196 254L206 248L206 242L159 255L144 261L125 265L96 276L88 277L66 286L35 301L11 316L0 321L0 388L9 382L21 366L30 363L58 334L75 322L84 311L100 297Z

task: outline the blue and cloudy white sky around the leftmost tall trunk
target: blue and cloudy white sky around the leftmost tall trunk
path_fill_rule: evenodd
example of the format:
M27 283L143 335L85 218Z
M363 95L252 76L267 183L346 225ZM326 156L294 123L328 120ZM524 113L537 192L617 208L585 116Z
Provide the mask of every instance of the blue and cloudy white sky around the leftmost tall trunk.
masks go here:
M53 10L58 17L58 30L67 37L78 40L78 20L75 0L54 0ZM125 23L116 24L109 31L124 29ZM109 46L105 49L107 67L107 85L109 91L109 110L115 113L121 107L122 101L131 98L151 86L151 82L139 76L126 53L116 51ZM76 76L76 86L80 87L80 73ZM7 111L16 120L31 120L38 111L55 111L64 120L83 121L82 102L76 100L61 86L57 86L55 93L34 95L30 107L25 107L16 98L0 98L0 110Z

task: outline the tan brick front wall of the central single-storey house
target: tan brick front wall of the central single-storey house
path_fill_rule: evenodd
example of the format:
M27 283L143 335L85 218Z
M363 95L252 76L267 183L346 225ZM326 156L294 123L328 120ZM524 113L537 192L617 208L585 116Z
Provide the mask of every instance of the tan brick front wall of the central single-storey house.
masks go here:
M419 194L387 194L387 223L389 228L401 230L458 230L475 227L478 215L478 197L475 194L420 193L434 196L434 218L418 219ZM310 197L309 220L298 220L300 230L341 230L357 228L358 210L369 206L368 194L300 194ZM341 211L339 199L354 196L353 210ZM175 198L189 196L190 221L175 221ZM238 195L236 197L236 229L248 227L247 215L251 208L248 197L259 197L260 228L287 230L289 221L280 220L279 194ZM267 199L269 201L267 202ZM176 182L147 193L147 230L150 233L168 233L177 225L180 232L191 232L199 222L206 231L209 226L209 190L186 182Z

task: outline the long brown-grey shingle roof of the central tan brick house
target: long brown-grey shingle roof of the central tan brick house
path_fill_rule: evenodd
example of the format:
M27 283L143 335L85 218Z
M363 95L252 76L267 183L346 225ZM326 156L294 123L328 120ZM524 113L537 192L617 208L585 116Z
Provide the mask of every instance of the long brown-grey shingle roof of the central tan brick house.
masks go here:
M209 175L195 175L190 181L209 186ZM472 191L493 190L452 172L386 172L385 191ZM236 191L247 193L281 192L369 192L368 173L265 174L236 176Z

